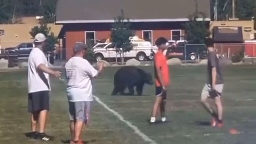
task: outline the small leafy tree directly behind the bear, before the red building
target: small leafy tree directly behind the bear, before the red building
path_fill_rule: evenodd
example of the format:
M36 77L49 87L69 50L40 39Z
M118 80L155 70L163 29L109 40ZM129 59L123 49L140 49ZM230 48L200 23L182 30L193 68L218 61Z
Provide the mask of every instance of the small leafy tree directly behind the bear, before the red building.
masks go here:
M128 52L132 49L131 41L129 38L132 36L130 30L129 19L126 19L124 11L121 10L121 15L114 19L115 23L112 25L111 40L115 44L116 52L122 54L122 64L124 63L124 52Z

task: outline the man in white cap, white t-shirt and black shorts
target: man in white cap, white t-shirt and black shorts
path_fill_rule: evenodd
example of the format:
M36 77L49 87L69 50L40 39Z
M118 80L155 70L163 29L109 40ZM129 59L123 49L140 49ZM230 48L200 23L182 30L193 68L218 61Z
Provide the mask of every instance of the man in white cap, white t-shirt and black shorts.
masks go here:
M28 59L28 112L31 113L31 132L26 136L48 141L51 137L45 134L45 122L49 111L49 74L60 77L60 72L48 68L45 40L45 35L35 35L35 48L31 50Z

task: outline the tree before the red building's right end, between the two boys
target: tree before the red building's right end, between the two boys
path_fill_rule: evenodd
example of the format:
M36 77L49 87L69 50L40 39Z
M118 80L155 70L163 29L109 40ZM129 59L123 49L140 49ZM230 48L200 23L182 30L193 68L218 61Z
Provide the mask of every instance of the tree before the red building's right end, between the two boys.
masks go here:
M198 11L198 5L197 0L196 1L196 11L189 15L188 22L183 25L186 30L186 40L188 40L190 43L205 43L206 37L210 35L210 31L207 27L207 23L204 21L205 14L203 12ZM203 20L198 21L197 18L201 17Z

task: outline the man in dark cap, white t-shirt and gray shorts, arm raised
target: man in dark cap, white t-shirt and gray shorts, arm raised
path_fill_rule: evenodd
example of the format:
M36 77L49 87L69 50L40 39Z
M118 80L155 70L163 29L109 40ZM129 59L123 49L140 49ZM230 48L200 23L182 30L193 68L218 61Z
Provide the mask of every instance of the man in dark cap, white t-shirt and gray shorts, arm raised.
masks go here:
M80 134L83 123L88 124L90 117L90 102L92 98L91 79L97 77L102 69L101 63L95 70L90 63L83 59L87 54L87 46L76 43L74 56L65 65L67 84L67 98L70 113L70 144L82 144Z

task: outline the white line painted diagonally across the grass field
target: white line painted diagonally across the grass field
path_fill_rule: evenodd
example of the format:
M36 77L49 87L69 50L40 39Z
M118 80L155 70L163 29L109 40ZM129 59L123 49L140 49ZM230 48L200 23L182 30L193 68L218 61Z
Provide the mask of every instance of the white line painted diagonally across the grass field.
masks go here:
M150 144L157 144L154 140L150 139L146 134L142 133L141 130L136 127L135 125L133 125L131 122L127 121L124 119L124 117L122 115L120 115L118 112L116 112L113 109L110 109L105 103L103 103L100 98L98 98L97 96L93 96L95 98L95 100L101 104L105 109L107 109L108 111L110 111L110 113L114 114L115 117L117 117L120 121L122 121L123 123L125 123L127 126L129 126L136 134L138 134L144 141L150 143Z

